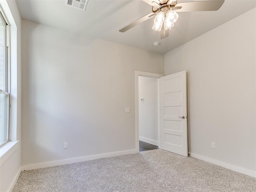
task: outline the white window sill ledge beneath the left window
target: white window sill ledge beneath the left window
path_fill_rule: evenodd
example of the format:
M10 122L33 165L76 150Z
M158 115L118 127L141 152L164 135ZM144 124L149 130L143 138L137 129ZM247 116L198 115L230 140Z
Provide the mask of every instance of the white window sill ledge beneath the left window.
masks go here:
M18 149L19 141L9 141L0 147L0 166Z

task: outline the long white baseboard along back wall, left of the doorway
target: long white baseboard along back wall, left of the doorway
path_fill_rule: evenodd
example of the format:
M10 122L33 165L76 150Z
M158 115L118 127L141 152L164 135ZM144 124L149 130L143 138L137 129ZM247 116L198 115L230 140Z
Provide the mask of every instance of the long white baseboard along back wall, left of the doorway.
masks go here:
M132 154L132 153L136 153L136 152L138 152L138 151L137 150L128 150L128 151L120 151L120 152L114 152L114 153L106 153L106 154L84 156L84 157L78 157L78 158L72 158L72 159L65 159L65 160L59 160L59 161L45 162L45 163L39 163L39 164L25 165L25 166L21 167L21 170L24 171L24 170L46 168L46 167L94 160L94 159L99 159L99 158L104 158L104 157L113 157L113 156L119 156L119 155L125 155L125 154Z

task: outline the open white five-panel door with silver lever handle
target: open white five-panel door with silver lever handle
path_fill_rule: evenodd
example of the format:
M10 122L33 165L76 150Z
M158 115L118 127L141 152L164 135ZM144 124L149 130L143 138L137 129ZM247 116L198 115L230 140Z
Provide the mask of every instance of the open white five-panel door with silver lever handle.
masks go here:
M160 148L188 156L186 71L160 78Z

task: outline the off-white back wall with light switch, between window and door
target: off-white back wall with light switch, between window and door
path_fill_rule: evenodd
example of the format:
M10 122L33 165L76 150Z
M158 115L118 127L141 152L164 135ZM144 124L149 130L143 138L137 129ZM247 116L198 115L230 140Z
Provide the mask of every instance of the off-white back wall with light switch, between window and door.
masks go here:
M23 166L136 148L135 70L163 54L25 20L22 51Z

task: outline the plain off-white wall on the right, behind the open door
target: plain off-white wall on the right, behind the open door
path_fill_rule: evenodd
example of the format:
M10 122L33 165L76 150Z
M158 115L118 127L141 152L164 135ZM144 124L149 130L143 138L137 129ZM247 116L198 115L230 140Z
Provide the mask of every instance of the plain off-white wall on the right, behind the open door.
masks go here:
M254 8L164 57L165 75L188 72L189 152L254 176L255 28Z

